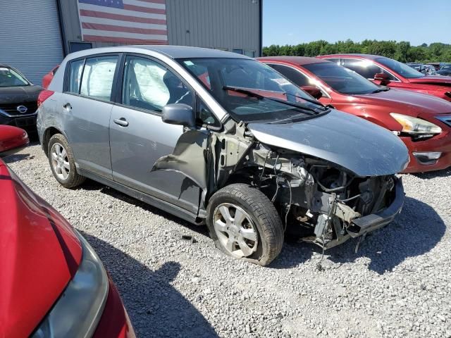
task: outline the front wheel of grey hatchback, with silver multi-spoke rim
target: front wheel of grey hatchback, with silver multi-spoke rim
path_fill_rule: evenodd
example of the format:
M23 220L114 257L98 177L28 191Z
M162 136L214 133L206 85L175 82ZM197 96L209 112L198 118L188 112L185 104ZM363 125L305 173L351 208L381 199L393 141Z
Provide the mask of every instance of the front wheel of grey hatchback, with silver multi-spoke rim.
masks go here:
M206 224L228 256L268 265L282 250L283 225L276 208L247 184L230 184L211 196Z

